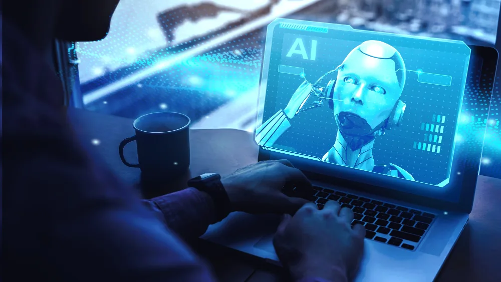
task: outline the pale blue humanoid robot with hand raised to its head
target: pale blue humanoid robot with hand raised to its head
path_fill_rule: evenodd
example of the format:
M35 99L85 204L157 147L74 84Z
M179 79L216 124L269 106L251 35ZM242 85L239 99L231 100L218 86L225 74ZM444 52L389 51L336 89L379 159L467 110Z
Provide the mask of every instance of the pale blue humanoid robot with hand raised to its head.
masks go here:
M336 80L321 86L324 78L335 72ZM291 127L292 118L326 101L335 116L337 136L322 161L414 180L396 164L375 165L372 155L376 137L400 125L405 111L405 103L400 100L405 73L404 61L395 48L380 41L366 41L314 84L305 78L287 107L257 129L256 142L272 147ZM318 101L304 107L312 96Z

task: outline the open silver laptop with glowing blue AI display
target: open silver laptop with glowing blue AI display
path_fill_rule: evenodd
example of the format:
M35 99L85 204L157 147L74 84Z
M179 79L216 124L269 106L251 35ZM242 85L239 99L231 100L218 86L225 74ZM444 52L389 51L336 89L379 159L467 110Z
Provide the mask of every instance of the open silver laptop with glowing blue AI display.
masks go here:
M365 226L356 281L432 281L472 209L497 64L461 41L277 19L268 26L256 142ZM494 118L494 117L492 117ZM279 264L278 215L231 213L202 239Z

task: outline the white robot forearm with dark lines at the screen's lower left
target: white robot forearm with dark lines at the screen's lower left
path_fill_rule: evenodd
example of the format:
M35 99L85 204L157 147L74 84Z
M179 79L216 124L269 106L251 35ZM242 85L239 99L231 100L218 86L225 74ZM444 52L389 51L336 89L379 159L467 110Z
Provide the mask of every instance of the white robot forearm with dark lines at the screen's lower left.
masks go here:
M256 142L261 146L271 147L290 127L289 119L280 110L256 130Z

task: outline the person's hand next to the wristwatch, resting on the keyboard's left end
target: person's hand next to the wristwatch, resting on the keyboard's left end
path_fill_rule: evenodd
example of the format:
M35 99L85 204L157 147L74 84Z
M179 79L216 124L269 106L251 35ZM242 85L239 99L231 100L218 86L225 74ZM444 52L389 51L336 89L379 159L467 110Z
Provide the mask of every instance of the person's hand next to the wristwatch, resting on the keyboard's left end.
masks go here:
M309 202L282 193L282 188L312 189L306 176L288 160L262 161L221 178L234 211L294 214Z

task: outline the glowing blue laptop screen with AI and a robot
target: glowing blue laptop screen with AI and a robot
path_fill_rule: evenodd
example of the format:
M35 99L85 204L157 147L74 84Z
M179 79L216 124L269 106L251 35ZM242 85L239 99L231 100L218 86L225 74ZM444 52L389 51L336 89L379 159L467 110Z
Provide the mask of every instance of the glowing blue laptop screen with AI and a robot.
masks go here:
M480 164L482 64L460 41L277 20L256 141L302 169L457 201Z

